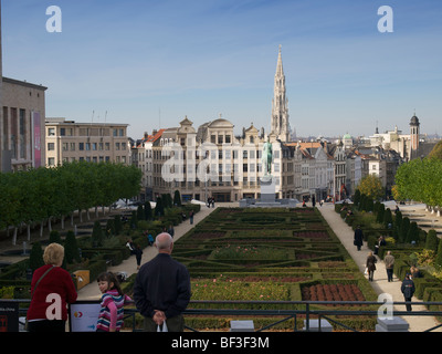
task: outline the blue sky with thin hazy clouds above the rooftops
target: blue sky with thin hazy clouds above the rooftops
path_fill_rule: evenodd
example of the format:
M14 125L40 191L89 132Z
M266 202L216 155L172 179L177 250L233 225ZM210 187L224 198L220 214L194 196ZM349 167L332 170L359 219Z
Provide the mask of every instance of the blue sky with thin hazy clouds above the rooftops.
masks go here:
M298 137L407 134L414 113L442 133L439 0L1 2L3 76L46 86L46 117L126 123L134 139L220 114L269 133L281 44Z

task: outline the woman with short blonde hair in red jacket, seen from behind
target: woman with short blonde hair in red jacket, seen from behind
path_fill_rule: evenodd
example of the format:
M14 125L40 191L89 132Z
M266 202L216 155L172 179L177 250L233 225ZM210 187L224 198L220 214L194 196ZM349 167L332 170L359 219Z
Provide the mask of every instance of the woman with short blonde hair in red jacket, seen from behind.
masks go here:
M71 274L61 268L64 248L51 243L44 249L45 266L36 269L31 282L31 304L28 310L30 332L64 332L67 303L76 301L76 290Z

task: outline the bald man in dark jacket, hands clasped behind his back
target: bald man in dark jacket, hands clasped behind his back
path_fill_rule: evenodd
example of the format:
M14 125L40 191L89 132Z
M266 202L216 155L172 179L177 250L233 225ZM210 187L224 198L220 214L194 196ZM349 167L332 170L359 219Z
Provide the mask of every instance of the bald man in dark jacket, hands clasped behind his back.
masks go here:
M145 330L156 332L166 322L169 332L182 332L181 313L190 301L190 275L187 268L170 254L173 241L169 233L157 236L158 254L138 271L134 284L134 301L145 316Z

